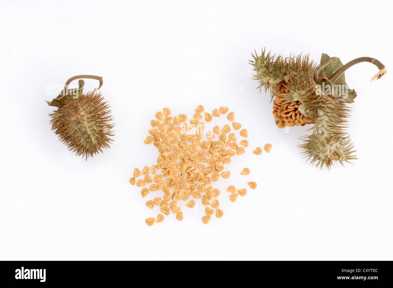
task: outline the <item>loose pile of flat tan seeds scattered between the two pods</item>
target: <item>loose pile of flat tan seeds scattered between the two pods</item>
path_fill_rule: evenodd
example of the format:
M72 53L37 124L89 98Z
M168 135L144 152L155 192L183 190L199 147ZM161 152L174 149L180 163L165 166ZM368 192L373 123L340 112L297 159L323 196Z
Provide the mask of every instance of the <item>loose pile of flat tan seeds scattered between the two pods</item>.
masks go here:
M199 199L202 205L206 206L206 215L202 217L204 224L209 222L214 213L217 218L224 215L217 199L220 191L211 184L221 177L229 178L231 172L225 166L231 162L231 157L243 154L244 148L248 147L247 139L242 139L239 146L233 133L235 131L231 133L231 130L240 130L239 135L242 138L247 138L248 133L246 129L241 129L240 123L234 121L234 112L227 114L232 128L226 124L222 128L214 126L209 130L208 128L213 125L202 121L204 119L205 122L210 122L213 117L220 117L228 111L228 107L220 107L210 114L204 112L204 106L199 105L195 109L193 119L188 122L185 114L171 117L169 108L163 108L156 113L156 119L151 121L150 135L144 143L153 144L158 149L160 154L157 164L151 167L145 166L142 171L135 168L133 177L130 178L131 185L142 187L143 198L150 192L163 191L162 197L155 197L146 202L147 207L154 209L157 206L161 212L155 218L147 218L145 220L147 225L152 226L154 223L162 222L164 215L169 215L171 211L176 215L177 220L183 220L183 212L178 205L180 200L186 202L186 207L193 208L196 204L195 200ZM204 141L204 137L207 141ZM159 169L161 173L158 173ZM241 174L249 173L248 170ZM150 176L151 174L154 176ZM248 182L248 185L252 189L257 187L255 182ZM247 190L230 189L230 192L232 194L229 198L234 202L237 195L244 196Z

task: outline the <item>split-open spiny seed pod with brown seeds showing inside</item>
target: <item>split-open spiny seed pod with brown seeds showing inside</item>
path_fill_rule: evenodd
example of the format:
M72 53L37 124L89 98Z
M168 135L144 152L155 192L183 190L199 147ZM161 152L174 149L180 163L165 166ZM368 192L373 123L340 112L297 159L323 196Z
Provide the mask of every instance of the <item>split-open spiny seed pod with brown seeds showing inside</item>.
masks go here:
M309 61L309 55L301 57L275 57L265 50L258 56L252 54L250 64L265 92L270 90L273 102L273 116L277 127L314 124L313 133L303 136L304 143L299 145L307 160L316 167L325 165L328 169L334 161L350 162L353 144L346 128L349 116L347 103L353 103L356 92L345 83L344 72L360 62L370 62L379 72L371 83L386 74L385 66L371 57L360 57L343 65L339 58L322 54L320 64ZM370 84L371 84L370 83Z

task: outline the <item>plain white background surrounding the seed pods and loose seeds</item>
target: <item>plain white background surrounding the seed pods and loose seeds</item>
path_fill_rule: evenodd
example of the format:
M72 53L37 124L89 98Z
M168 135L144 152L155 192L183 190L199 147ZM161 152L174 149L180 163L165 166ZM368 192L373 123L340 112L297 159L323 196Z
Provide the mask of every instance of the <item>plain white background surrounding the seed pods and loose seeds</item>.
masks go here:
M391 3L2 1L0 259L392 260ZM358 93L355 165L313 168L296 147L310 127L275 126L248 64L262 47L386 65L372 85L369 63L345 73ZM48 85L79 74L104 78L116 123L111 149L87 161L51 132L44 102L57 96ZM86 80L84 91L95 87ZM156 148L143 144L150 120L163 107L192 116L199 104L230 107L248 129L246 153L215 184L224 216L204 225L201 204L180 203L182 222L171 214L149 227L158 209L129 178L156 163ZM265 143L270 154L252 154ZM245 166L251 174L240 176ZM248 181L257 189L230 202L226 187Z

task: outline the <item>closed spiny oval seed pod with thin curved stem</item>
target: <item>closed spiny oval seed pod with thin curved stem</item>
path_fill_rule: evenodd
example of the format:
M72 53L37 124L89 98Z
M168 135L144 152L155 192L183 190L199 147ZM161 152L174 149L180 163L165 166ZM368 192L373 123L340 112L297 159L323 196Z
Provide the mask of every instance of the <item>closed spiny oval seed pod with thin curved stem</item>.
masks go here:
M82 94L84 81L79 80L79 88L68 90L68 85L75 79L97 79L100 85L87 94ZM66 82L64 89L52 101L46 101L49 106L58 107L49 114L52 130L67 145L68 150L76 152L78 156L94 156L103 152L103 148L110 148L110 136L113 124L110 123L110 109L104 97L96 90L103 84L102 77L93 75L74 76Z

